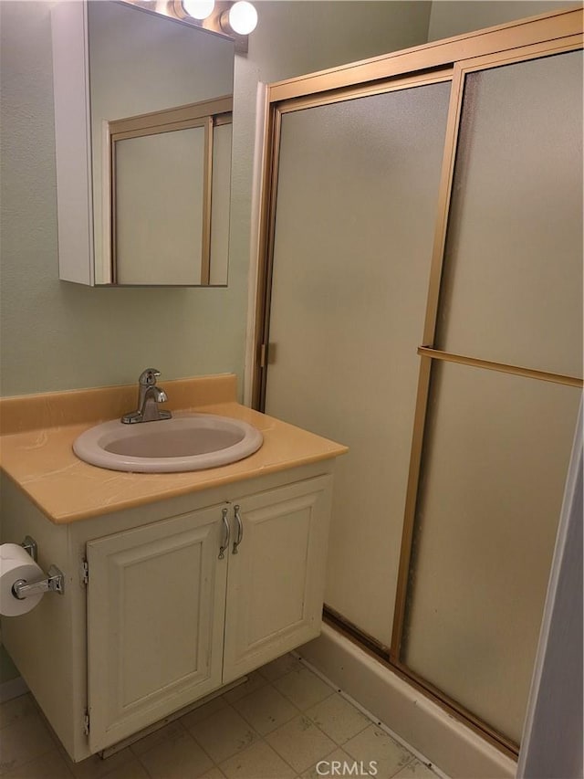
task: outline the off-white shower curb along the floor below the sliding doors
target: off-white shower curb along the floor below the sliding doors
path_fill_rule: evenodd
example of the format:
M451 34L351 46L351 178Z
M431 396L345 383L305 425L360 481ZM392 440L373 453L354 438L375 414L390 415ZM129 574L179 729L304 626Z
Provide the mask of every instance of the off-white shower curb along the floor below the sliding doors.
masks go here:
M342 636L323 626L301 657L453 779L513 779L516 762Z

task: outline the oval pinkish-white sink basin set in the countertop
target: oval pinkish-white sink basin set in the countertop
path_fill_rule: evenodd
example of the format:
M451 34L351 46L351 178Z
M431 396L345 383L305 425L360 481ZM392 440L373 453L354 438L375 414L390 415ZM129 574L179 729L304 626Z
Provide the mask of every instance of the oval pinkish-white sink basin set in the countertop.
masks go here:
M259 430L239 419L189 414L134 425L104 422L82 433L73 451L99 468L170 473L228 465L252 455L263 441Z

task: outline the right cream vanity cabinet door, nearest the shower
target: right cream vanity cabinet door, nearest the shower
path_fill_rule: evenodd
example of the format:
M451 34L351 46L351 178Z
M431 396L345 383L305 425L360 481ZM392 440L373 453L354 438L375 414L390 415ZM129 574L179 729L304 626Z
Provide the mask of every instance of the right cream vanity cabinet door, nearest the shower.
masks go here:
M318 636L331 490L332 477L322 476L239 502L243 539L229 554L224 683Z

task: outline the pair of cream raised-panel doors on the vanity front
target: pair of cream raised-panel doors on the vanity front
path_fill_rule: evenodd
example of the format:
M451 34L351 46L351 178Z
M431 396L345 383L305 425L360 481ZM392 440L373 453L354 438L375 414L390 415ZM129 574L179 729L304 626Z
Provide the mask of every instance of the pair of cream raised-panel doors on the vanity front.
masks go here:
M91 752L318 635L331 488L320 476L88 542Z

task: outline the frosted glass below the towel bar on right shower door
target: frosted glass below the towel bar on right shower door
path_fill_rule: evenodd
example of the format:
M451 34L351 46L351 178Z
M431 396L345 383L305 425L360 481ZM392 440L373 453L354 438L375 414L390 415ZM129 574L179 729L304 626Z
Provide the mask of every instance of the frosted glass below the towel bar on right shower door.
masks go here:
M518 743L579 390L436 363L403 659Z

